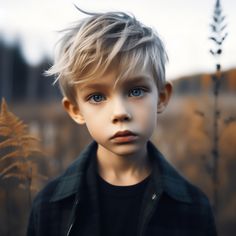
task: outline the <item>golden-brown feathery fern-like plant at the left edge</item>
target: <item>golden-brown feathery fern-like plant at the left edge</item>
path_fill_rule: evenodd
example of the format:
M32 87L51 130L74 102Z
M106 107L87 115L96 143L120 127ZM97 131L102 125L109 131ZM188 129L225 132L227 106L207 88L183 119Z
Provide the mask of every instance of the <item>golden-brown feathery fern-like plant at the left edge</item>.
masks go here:
M20 187L35 189L34 178L45 179L39 174L36 156L44 155L38 138L30 135L24 124L16 115L9 111L5 99L2 99L0 112L0 170L2 179L14 177L20 180ZM3 153L3 154L2 154Z

